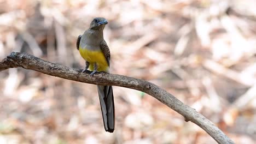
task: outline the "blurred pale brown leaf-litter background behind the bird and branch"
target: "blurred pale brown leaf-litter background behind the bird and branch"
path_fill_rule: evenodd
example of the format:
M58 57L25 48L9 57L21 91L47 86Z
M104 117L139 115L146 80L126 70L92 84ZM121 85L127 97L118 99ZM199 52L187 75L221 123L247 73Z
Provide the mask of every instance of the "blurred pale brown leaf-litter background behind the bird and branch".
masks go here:
M83 69L79 34L105 17L111 73L166 89L235 143L256 143L256 1L0 1L0 59L12 51ZM139 91L113 87L104 131L97 88L32 70L0 73L0 143L216 143Z

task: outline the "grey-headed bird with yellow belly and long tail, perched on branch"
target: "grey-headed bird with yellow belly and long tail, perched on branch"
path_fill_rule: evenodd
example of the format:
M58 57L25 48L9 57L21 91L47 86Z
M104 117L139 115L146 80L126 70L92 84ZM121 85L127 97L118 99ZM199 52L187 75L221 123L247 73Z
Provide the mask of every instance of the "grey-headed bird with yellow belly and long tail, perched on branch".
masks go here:
M96 17L92 20L90 28L83 35L77 38L77 49L85 59L85 69L89 68L94 75L96 71L109 73L110 51L106 41L103 39L103 29L107 24L103 17ZM97 86L100 97L101 112L104 128L113 133L115 126L115 110L112 86Z

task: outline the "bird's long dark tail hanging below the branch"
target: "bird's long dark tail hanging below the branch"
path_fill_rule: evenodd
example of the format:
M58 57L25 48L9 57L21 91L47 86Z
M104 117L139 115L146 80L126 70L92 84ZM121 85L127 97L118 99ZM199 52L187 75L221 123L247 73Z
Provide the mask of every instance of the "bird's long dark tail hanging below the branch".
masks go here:
M100 97L104 128L113 133L115 127L115 106L112 86L97 86Z

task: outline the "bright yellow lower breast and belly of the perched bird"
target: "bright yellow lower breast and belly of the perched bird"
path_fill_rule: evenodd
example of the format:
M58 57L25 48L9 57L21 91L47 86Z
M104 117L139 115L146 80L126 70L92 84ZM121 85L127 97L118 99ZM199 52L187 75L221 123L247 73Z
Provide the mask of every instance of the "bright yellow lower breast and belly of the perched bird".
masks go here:
M86 48L79 47L80 55L89 62L89 70L94 70L94 63L97 63L97 71L106 71L108 72L108 63L102 51L91 51Z

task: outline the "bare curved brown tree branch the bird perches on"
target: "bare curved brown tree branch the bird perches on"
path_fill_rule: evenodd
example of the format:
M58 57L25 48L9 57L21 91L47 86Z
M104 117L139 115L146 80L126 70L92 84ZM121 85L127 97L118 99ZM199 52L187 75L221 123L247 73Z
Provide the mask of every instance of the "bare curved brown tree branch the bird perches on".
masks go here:
M196 112L188 105L183 104L172 94L167 93L164 89L161 89L148 81L107 73L96 73L94 76L90 77L90 71L80 73L81 70L79 69L73 69L60 64L46 62L43 59L34 57L27 53L11 52L7 58L4 58L3 61L0 62L0 71L16 67L31 69L46 75L52 75L73 81L91 83L94 85L126 87L145 92L152 95L152 97L158 99L174 111L180 113L185 118L185 121L191 121L197 124L218 143L234 143L223 133L223 131L217 128L207 118Z

